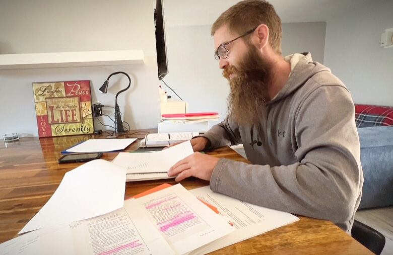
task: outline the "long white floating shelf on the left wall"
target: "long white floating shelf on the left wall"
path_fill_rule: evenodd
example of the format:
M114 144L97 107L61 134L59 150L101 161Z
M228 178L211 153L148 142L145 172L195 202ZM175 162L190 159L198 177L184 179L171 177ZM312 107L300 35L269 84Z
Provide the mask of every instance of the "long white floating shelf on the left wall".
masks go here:
M142 50L0 54L0 69L144 64Z

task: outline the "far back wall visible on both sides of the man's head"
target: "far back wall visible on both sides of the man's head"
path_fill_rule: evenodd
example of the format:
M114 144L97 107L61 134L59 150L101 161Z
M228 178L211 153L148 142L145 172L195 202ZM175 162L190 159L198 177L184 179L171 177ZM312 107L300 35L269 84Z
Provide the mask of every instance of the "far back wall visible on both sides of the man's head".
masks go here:
M283 24L283 55L309 51L323 63L325 26L324 22ZM169 73L164 81L188 102L190 112L217 111L222 120L227 115L229 87L214 58L210 30L211 25L166 27ZM164 84L163 88L176 98Z

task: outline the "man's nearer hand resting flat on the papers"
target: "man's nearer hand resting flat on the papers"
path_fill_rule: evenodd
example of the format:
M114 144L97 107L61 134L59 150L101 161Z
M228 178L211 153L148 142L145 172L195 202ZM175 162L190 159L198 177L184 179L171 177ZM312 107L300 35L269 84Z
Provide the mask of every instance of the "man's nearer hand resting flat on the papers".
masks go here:
M168 176L177 176L175 179L176 182L180 182L181 180L184 180L190 176L210 181L213 169L216 166L218 160L220 160L220 158L202 154L200 152L194 152L193 154L174 164L169 169Z

